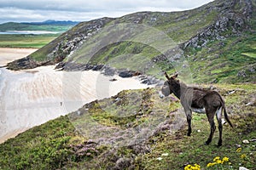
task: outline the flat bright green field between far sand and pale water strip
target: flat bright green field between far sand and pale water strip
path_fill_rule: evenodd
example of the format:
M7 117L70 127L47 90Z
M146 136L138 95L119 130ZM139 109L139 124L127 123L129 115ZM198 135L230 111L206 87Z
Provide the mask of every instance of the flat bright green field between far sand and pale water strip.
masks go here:
M0 35L0 48L42 48L59 34Z

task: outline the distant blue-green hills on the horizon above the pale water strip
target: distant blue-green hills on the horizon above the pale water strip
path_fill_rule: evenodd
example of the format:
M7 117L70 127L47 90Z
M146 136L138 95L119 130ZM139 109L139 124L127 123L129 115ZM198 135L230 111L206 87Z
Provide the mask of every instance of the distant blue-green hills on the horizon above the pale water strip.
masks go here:
M0 31L67 31L79 22L71 20L45 20L44 22L7 22Z

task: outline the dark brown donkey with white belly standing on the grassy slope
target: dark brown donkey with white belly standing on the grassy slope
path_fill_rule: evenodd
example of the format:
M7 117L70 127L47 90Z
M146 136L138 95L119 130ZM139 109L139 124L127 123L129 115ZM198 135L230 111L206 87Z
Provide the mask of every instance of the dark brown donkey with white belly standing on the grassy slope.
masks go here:
M188 136L190 136L192 131L192 111L197 113L206 113L211 126L211 133L206 141L206 144L210 144L212 142L212 136L216 129L214 123L214 115L216 114L219 132L218 146L221 146L223 129L221 121L222 111L224 111L224 117L226 121L230 124L231 127L233 127L227 115L224 106L224 99L222 99L221 95L218 94L218 92L212 90L188 87L186 84L184 84L183 82L179 82L179 80L176 79L177 73L173 77L169 77L165 72L165 76L167 78L167 81L164 83L164 86L161 90L160 98L163 98L164 96L168 96L169 94L173 93L178 99L180 99L189 125Z

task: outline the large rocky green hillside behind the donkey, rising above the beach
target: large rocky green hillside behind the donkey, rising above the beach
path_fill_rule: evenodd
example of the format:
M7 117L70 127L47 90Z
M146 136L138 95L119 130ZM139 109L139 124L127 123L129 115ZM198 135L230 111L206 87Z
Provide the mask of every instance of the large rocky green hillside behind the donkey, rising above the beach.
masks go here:
M58 68L68 71L108 65L157 75L160 70L179 70L173 60L183 58L195 82L253 82L255 8L252 0L216 0L183 12L91 20L8 67L20 70L61 62ZM161 42L165 38L169 39ZM163 44L169 47L163 49ZM170 53L173 49L178 50ZM143 70L138 65L144 65Z

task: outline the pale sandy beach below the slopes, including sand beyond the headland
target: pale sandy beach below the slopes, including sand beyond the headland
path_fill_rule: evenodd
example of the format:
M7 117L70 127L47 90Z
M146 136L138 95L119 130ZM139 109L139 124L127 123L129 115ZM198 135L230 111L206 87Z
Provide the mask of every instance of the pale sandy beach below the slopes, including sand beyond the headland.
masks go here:
M0 48L0 63L6 65L35 50ZM105 77L100 71L55 71L54 65L0 71L0 143L30 127L77 111L95 99L113 96L123 89L148 88L137 77ZM117 81L109 81L113 78Z

